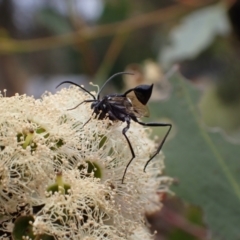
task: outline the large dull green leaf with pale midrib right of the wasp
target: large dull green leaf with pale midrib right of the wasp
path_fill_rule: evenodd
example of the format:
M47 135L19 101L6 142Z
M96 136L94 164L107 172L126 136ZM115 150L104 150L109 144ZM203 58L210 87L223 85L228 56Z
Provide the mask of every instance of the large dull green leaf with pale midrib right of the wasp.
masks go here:
M175 137L163 146L166 171L179 180L173 191L201 206L213 237L240 238L240 148L208 133L198 112L199 91L174 77L172 96L150 106L153 118L171 119ZM214 110L214 109L213 109Z

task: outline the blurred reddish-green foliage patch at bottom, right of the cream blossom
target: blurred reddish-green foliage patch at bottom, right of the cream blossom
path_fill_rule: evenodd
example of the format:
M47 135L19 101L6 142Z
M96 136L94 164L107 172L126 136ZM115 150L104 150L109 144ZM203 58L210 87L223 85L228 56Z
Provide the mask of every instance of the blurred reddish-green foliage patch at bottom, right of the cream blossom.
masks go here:
M203 211L186 204L176 196L164 196L160 211L147 214L151 232L157 231L156 239L206 240L208 232L203 223Z

